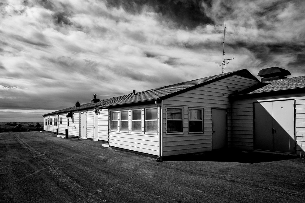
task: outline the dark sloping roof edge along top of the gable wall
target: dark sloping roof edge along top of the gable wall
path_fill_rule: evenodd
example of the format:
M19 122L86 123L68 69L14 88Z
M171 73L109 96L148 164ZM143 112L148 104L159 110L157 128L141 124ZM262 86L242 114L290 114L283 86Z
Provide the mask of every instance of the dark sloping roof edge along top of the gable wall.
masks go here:
M242 73L245 73L245 75L242 74ZM176 96L176 95L178 95L178 94L187 92L187 91L189 91L189 90L192 90L192 89L201 87L201 86L203 86L203 85L207 85L207 84L210 84L210 83L212 83L212 82L216 82L216 81L218 81L218 80L221 80L221 79L230 77L230 76L232 76L232 75L239 75L239 76L246 77L246 78L249 78L249 79L254 79L254 80L256 80L257 82L260 82L260 81L259 81L254 75L252 75L252 73L250 73L247 69L241 69L241 70L234 71L234 72L231 72L231 73L229 73L229 74L226 74L226 75L219 76L219 77L217 77L217 78L208 80L208 81L206 81L206 82L202 82L202 83L200 83L200 84L198 84L198 85L191 86L191 87L188 87L188 88L179 90L179 91L177 91L177 92L168 94L168 95L166 95L166 96L161 96L160 99L161 99L161 100L164 100L164 99L167 99L167 98L169 98L169 97Z

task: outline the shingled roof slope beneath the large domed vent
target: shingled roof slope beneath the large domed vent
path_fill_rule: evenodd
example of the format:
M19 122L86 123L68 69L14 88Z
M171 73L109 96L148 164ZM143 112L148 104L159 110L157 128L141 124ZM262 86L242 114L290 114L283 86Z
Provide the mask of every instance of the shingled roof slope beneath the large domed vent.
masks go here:
M305 76L299 76L294 78L286 78L279 80L271 80L267 82L263 82L266 85L255 89L246 94L254 94L254 93L264 93L264 92L273 92L287 89L296 89L296 88L305 88Z

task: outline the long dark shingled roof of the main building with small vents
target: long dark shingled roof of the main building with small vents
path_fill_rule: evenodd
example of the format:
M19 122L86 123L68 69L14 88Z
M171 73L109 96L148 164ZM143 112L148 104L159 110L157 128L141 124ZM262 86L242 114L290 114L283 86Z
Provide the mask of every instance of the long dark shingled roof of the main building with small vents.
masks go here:
M255 79L255 78L248 70L242 69L238 71L228 72L220 75L213 75L206 78L200 78L196 80L191 80L187 82L180 82L174 85L169 86L163 86L156 89L150 89L145 90L142 92L138 92L135 95L133 93L114 97L111 99L102 100L97 103L86 103L81 105L80 107L69 107L66 109L54 111L52 113L45 114L51 115L51 114L57 114L57 113L64 113L64 112L70 112L70 111L77 111L82 109L89 109L89 108L106 108L111 106L118 106L118 105L126 105L126 104L134 104L134 103L140 103L140 102L146 102L146 101L153 101L153 100L162 100L183 92L186 92L190 89L197 88L199 86L203 86L206 84L209 84L211 82L227 78L231 75L241 75L247 78Z

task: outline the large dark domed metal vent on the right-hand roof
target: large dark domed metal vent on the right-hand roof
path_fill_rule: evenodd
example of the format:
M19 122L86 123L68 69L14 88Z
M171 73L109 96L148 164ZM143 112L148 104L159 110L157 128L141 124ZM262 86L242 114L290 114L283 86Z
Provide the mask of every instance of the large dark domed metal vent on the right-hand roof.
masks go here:
M260 79L261 82L265 82L270 80L285 79L287 78L287 75L291 75L288 70L279 67L271 67L260 70L257 76L262 77L262 79Z

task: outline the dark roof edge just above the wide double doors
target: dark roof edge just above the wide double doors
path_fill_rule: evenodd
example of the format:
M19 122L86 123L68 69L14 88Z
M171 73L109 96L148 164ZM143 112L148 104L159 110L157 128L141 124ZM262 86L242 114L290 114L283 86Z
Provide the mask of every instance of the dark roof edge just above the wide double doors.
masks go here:
M237 94L237 95L231 95L230 99L231 100L242 100L242 99L251 99L251 98L254 98L254 97L275 96L275 95L280 95L280 94L302 93L300 91L303 91L303 93L305 93L305 87L294 88L294 89L282 89L282 90L276 90L276 91L270 91L270 92Z

